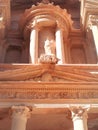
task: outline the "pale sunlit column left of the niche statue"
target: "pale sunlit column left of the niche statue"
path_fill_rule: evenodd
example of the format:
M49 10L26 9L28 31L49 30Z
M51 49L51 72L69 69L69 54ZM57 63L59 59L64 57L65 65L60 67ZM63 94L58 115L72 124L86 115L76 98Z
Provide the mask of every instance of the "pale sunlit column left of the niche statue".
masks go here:
M34 27L30 34L30 63L38 63L38 28Z

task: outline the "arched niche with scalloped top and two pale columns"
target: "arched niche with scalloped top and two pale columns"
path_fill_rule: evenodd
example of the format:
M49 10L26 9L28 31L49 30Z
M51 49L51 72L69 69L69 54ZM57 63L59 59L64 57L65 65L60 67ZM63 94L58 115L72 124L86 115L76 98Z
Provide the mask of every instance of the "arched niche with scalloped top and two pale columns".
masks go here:
M45 42L55 43L55 56L60 64L66 62L65 49L72 30L71 16L64 9L53 4L40 3L27 9L20 20L20 29L25 43L30 43L30 62L38 63L45 51ZM49 49L50 45L47 46ZM52 53L52 52L51 52ZM48 54L48 53L47 53Z

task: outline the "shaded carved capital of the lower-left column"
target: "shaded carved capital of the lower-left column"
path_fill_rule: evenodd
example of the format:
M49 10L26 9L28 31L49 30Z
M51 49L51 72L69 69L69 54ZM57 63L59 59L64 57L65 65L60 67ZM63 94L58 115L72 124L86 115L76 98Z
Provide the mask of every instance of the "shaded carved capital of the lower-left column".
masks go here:
M26 106L12 106L11 113L12 113L12 118L30 117L30 110Z

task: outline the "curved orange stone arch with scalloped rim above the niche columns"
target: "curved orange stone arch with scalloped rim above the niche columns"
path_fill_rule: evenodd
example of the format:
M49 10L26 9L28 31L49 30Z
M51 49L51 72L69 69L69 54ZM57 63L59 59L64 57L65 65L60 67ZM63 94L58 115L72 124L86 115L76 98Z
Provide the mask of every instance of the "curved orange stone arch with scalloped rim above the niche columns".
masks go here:
M34 27L54 26L62 28L66 33L73 29L71 15L66 9L61 9L53 4L39 3L27 9L20 20L20 29L24 37L30 35Z

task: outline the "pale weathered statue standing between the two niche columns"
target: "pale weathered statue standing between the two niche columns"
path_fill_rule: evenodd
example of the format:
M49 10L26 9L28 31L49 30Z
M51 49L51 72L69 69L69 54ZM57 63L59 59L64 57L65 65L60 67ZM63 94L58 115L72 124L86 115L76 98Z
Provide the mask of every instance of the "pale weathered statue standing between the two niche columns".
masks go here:
M44 44L44 49L46 55L55 55L56 46L54 40L49 41L47 39Z

